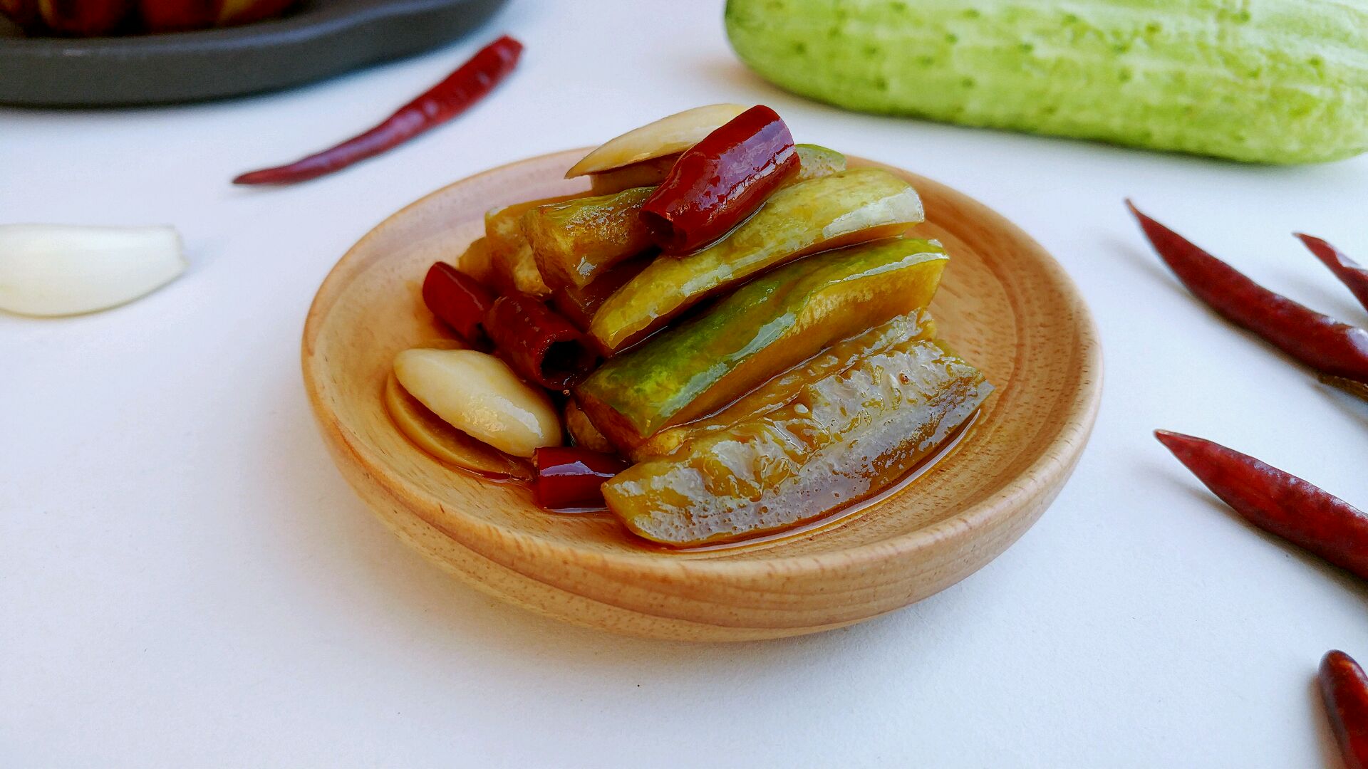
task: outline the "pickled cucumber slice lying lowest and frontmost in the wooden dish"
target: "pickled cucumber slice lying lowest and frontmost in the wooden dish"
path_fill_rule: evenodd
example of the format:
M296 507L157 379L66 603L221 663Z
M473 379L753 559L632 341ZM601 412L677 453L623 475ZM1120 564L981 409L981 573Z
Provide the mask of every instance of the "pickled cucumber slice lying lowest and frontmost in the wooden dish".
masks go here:
M990 391L973 365L912 339L803 386L782 408L632 465L603 498L631 531L673 547L784 531L896 483Z

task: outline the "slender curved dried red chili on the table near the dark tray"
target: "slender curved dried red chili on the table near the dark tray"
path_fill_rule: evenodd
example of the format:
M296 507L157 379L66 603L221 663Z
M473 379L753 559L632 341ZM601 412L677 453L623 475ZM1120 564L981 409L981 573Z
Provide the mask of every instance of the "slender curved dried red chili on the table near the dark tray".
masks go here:
M234 185L290 185L341 171L353 163L398 146L460 115L499 83L523 53L523 44L503 36L486 45L446 79L361 135L287 166L250 171Z

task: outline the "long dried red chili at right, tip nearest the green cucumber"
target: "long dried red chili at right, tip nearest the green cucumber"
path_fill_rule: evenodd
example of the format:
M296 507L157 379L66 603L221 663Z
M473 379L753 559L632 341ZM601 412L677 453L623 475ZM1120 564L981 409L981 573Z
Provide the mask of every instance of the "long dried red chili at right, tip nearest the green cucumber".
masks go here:
M1159 256L1197 298L1321 374L1368 382L1368 330L1341 323L1264 289L1145 216L1129 200L1126 205Z

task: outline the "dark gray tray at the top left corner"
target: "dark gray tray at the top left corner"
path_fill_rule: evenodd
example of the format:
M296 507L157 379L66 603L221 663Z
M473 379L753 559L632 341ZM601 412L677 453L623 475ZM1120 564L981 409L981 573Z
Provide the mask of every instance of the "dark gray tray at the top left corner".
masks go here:
M0 103L164 104L287 88L427 51L506 1L305 0L239 27L86 40L26 38L0 19Z

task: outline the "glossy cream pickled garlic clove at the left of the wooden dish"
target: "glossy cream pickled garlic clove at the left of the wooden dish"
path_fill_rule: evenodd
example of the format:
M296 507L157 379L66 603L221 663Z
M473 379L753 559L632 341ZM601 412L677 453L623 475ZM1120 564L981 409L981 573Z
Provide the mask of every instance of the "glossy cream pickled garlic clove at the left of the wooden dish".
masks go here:
M542 446L561 445L551 400L491 354L404 350L394 356L394 376L447 424L506 454L531 457Z

